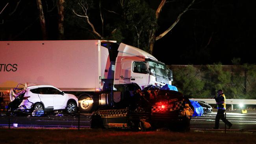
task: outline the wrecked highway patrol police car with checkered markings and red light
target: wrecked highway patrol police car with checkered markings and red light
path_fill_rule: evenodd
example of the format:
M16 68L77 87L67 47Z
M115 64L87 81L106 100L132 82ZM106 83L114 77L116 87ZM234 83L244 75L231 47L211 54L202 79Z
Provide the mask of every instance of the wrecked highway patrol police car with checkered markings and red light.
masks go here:
M194 108L181 92L160 90L152 85L141 90L135 83L115 85L115 88L109 96L109 106L93 112L92 128L190 129Z

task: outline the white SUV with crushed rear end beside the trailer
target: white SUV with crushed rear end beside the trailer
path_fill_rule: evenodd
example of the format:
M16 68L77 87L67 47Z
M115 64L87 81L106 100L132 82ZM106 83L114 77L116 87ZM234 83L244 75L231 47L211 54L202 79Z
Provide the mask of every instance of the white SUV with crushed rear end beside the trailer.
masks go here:
M78 109L78 99L73 94L65 94L52 85L28 85L24 88L10 90L11 102L7 108L12 111L30 112L38 116L44 111L66 110L67 113L75 113Z

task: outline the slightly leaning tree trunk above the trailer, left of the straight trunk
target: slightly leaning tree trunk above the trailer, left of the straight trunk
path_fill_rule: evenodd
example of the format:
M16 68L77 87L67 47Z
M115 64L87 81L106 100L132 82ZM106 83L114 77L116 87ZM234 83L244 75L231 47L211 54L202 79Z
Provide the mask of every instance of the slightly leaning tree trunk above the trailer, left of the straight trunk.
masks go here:
M46 27L45 27L45 15L43 11L43 6L42 6L42 1L37 0L37 9L39 11L39 19L40 19L40 24L41 24L41 30L42 30L42 36L43 40L46 40Z

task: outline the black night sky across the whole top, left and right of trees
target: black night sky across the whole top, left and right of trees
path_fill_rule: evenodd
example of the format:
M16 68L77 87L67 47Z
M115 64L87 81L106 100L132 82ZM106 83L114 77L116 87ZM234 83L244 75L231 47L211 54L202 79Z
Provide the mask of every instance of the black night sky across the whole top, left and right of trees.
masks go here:
M160 13L156 35L169 28L192 0L169 1L171 2L167 0ZM7 2L10 0L1 0L0 12ZM21 0L20 6L12 15L9 14L15 5L11 4L0 14L1 41L41 40L36 3L31 0L26 2L27 4L24 4L25 2ZM150 7L157 9L161 0L147 0L147 2ZM254 64L256 63L255 6L254 0L196 0L191 10L182 15L173 30L156 41L153 55L167 65L205 65L219 62L223 65L232 65L234 58L241 58L241 64ZM47 16L48 13L45 15ZM56 15L47 16L51 22L46 23L50 28L49 40L56 40L57 37ZM80 30L66 28L65 32L68 31ZM67 39L86 39L86 37L76 35Z

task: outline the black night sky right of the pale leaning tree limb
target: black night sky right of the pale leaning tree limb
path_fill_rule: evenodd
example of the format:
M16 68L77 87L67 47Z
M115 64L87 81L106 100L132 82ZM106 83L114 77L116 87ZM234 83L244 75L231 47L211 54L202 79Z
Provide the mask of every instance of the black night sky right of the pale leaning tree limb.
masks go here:
M156 42L154 55L167 65L232 65L234 58L241 58L241 64L254 64L254 6L252 0L205 0L195 4L191 7L194 10L187 11L173 30ZM165 11L173 12L164 7L158 32L173 22Z

